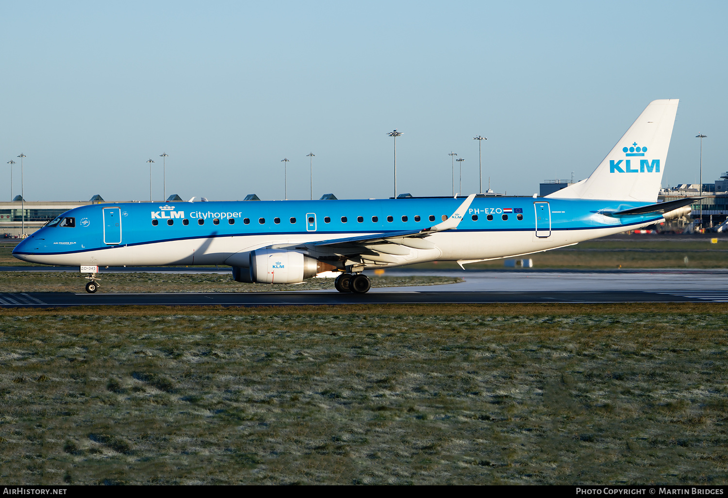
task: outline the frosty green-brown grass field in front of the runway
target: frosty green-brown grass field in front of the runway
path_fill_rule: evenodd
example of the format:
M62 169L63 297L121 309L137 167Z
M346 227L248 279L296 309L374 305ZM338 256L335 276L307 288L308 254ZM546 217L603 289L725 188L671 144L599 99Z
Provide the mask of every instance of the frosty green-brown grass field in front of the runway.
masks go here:
M728 483L720 304L0 311L16 483Z

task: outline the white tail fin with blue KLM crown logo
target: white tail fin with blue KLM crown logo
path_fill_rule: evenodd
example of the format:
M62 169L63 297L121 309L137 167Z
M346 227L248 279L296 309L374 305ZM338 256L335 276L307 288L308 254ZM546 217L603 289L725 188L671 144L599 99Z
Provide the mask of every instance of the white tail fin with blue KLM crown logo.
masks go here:
M678 99L653 100L586 180L546 197L657 201Z

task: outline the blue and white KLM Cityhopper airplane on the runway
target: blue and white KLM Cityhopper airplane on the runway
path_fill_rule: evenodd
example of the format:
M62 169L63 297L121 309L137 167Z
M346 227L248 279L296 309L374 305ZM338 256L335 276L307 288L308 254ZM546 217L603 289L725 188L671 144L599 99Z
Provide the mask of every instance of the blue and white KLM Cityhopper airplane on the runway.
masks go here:
M367 269L526 256L678 218L696 198L657 203L678 108L654 100L585 180L546 197L133 202L63 213L12 251L79 266L229 265L238 282L300 283L339 272L366 293ZM699 199L699 198L697 198Z

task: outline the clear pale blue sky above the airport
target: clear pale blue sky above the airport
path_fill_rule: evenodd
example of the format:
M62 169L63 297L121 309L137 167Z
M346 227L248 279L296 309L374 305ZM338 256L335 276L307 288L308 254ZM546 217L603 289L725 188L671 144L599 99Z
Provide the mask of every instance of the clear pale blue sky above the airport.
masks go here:
M28 200L529 195L680 98L663 184L728 170L725 1L2 1L0 165ZM16 159L19 161L19 159ZM19 165L19 164L18 164ZM7 165L0 198L9 194ZM15 178L20 169L16 167ZM486 180L487 181L487 180ZM4 186L3 186L4 185ZM20 191L17 182L15 193Z

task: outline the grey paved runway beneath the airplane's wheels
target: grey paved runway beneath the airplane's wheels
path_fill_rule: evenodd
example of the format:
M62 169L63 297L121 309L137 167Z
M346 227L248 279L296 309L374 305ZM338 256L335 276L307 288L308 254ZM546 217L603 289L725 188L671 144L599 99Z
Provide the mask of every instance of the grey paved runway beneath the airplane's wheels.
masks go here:
M17 268L17 267L16 267ZM14 268L16 271L17 269ZM192 270L192 271L189 271ZM163 271L199 272L199 269ZM28 270L30 271L30 270ZM140 269L124 269L140 271ZM141 269L154 272L154 269ZM205 269L228 272L226 269ZM367 294L326 291L257 293L0 293L1 307L73 306L300 306L317 304L455 303L660 303L728 302L728 270L662 269L622 271L416 270L387 275L442 275L464 278L447 285L373 288ZM79 280L79 282L81 282ZM79 283L79 291L82 282Z

